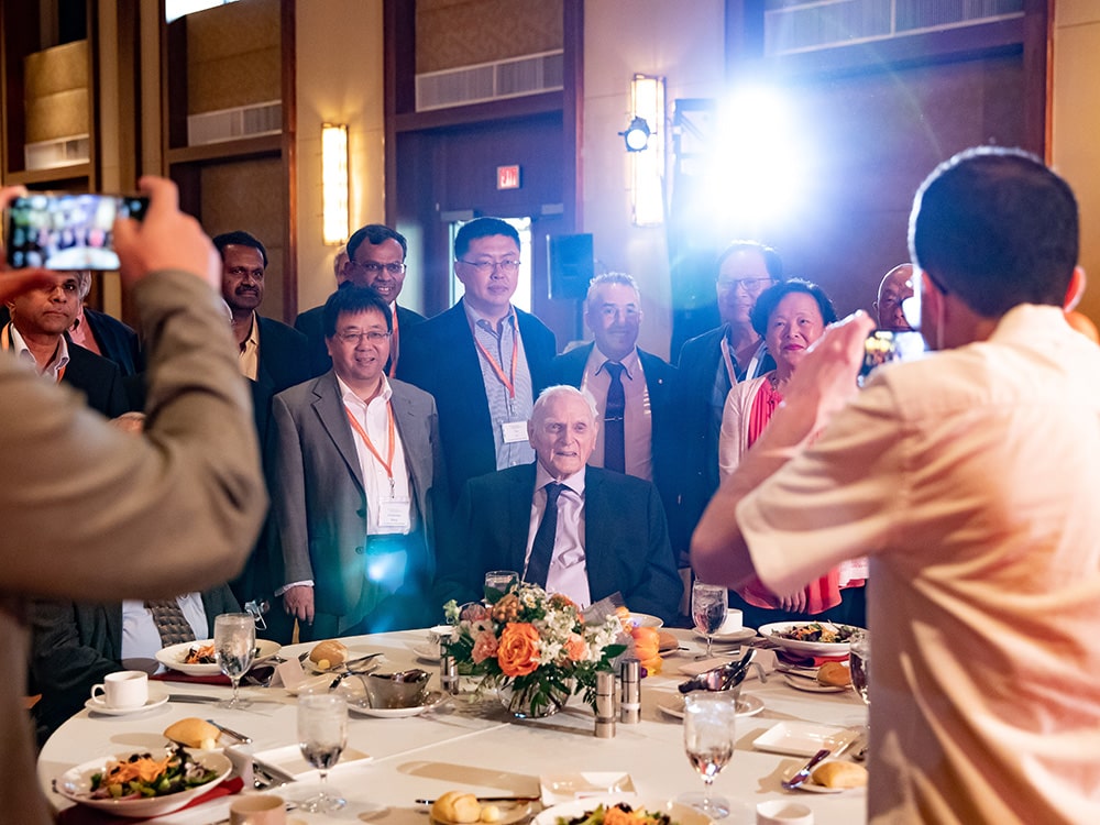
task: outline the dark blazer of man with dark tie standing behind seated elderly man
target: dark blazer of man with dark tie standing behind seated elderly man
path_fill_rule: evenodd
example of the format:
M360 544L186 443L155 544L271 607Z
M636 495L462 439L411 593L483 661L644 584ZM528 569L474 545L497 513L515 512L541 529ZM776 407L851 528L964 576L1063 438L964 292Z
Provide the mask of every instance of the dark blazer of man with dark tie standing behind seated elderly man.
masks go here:
M580 388L584 378L584 365L588 362L594 346L595 343L576 346L556 358L550 365L550 383L569 384ZM682 454L680 407L675 396L676 369L642 349L638 350L638 360L646 374L646 388L649 391L652 411L650 452L653 461L653 484L660 491L664 514L669 519L669 538L672 540L672 549L679 556L681 552L686 552L689 537L682 529L679 506Z

